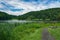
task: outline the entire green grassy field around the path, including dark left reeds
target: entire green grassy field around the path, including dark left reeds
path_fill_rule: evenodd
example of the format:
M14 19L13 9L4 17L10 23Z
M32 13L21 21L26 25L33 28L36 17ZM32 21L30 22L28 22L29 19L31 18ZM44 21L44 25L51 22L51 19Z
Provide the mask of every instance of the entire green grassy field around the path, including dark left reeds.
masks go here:
M59 22L0 23L0 40L42 40L43 28L60 40Z

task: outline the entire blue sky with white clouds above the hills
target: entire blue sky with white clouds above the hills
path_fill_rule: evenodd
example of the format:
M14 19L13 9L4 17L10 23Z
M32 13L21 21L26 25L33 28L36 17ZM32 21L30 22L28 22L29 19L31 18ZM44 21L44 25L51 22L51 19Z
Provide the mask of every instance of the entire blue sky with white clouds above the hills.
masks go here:
M60 8L60 0L0 0L0 11L11 15L49 8Z

